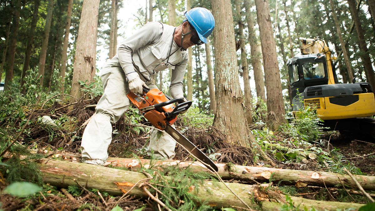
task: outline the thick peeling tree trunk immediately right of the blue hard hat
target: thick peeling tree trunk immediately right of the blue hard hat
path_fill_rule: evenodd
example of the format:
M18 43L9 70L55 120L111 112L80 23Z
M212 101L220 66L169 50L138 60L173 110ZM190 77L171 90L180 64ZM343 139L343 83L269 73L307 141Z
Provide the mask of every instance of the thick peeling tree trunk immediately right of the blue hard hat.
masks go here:
M243 95L237 71L236 44L233 15L229 0L212 0L214 28L216 114L213 126L227 137L229 142L248 146L254 140L247 127Z

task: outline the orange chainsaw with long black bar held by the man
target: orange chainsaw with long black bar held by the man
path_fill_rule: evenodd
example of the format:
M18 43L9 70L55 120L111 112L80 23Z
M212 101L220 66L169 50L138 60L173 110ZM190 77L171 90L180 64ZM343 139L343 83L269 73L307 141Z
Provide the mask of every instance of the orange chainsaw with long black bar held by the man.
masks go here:
M184 146L191 154L195 155L210 170L217 172L217 166L200 151L193 143L171 125L177 120L177 115L185 112L191 106L191 101L184 98L172 99L158 89L147 89L143 87L143 93L136 95L133 92L127 93L127 98L139 109L141 114L157 129L164 130L171 135L176 142ZM175 105L175 103L178 103ZM212 169L211 169L212 168Z

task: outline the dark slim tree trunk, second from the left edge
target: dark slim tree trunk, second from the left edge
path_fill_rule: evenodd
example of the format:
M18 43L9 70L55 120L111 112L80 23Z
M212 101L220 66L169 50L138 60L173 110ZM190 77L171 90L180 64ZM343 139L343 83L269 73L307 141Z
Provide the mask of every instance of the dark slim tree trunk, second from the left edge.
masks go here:
M22 68L21 84L20 84L20 89L22 90L21 93L23 95L26 93L26 87L23 87L23 86L24 86L24 83L25 83L26 71L28 70L28 67L29 67L29 64L30 64L31 50L33 50L34 33L35 33L35 29L36 29L36 22L38 20L39 3L40 3L40 0L34 1L33 19L31 20L30 30L28 32L25 61L24 61L24 66Z

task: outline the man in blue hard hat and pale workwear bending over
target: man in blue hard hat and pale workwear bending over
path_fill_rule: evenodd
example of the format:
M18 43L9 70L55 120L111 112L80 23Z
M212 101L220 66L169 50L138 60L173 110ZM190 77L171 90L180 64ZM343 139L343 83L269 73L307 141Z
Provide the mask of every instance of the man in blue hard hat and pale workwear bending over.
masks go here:
M82 160L103 165L108 158L112 141L112 125L129 107L126 93L142 93L142 88L157 89L152 83L159 71L172 69L169 90L172 98L183 97L187 52L193 45L207 43L215 21L205 8L185 12L185 20L178 26L150 22L130 36L117 49L117 55L102 69L104 93L96 105L96 113L87 124L82 136ZM166 134L159 139L157 130L151 130L147 154L154 158L172 158L175 141Z

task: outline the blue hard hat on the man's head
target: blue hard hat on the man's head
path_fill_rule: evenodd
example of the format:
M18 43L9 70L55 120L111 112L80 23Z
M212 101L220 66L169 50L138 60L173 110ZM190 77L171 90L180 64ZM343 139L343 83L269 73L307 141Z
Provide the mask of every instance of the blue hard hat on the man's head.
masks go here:
M215 27L215 19L211 12L206 8L193 8L185 12L185 18L194 27L199 39L207 43L207 38Z

